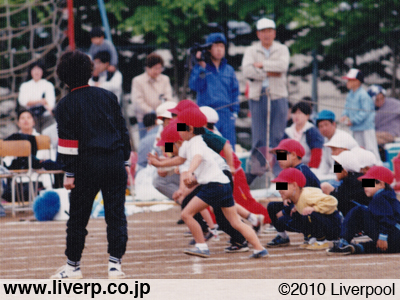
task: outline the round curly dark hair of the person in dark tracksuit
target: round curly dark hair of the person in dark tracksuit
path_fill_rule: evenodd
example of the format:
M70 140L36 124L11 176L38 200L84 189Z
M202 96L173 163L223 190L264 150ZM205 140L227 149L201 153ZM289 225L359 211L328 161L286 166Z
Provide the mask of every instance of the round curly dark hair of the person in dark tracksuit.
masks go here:
M64 53L57 65L57 76L70 89L86 85L92 77L93 62L81 51Z

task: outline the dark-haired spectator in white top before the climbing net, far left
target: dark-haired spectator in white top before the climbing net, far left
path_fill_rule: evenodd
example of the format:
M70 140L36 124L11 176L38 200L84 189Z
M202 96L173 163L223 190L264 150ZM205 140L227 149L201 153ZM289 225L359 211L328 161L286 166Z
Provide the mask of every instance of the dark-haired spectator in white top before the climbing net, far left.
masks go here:
M43 78L44 72L45 67L41 61L32 63L28 71L28 81L21 85L18 95L20 110L31 111L39 133L54 123L52 110L56 103L54 86Z

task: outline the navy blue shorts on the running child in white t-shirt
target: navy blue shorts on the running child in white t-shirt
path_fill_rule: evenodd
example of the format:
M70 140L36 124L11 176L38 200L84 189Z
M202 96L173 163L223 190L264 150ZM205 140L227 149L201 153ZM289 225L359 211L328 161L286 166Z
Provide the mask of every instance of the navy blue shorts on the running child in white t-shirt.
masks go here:
M229 183L210 182L201 185L196 196L211 207L232 207L235 205Z

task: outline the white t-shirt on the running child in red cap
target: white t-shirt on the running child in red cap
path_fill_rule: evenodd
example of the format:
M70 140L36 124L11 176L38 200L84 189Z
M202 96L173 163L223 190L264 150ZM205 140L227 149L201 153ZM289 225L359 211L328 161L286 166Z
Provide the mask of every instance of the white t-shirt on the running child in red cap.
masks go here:
M191 162L195 155L201 155L203 160L194 171L199 184L210 182L229 183L229 178L222 172L218 166L217 158L221 158L217 153L207 147L201 135L184 141L179 148L179 156L186 158ZM221 158L222 159L222 158Z

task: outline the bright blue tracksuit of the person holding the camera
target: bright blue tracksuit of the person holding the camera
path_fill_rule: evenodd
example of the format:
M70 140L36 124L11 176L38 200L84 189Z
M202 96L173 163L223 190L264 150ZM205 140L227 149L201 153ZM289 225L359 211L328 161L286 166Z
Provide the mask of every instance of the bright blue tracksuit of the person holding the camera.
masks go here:
M234 69L222 59L219 68L211 62L206 68L196 65L190 74L189 86L197 92L197 104L210 106L218 112L215 124L232 147L236 144L235 116L239 112L239 82Z

